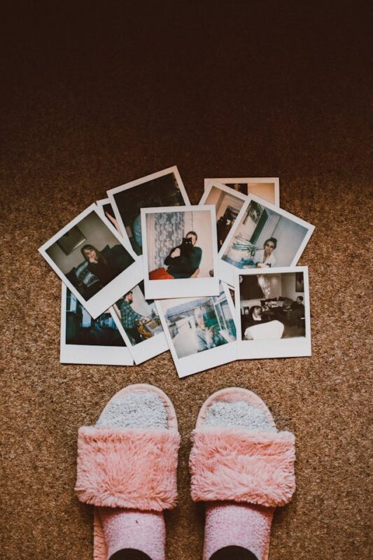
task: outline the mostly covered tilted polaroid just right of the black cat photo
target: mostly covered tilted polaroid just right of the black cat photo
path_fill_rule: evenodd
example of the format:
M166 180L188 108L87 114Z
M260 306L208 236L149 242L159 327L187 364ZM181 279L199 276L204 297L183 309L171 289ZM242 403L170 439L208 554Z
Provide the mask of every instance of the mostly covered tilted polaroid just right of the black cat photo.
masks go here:
M218 251L236 221L239 211L244 206L247 196L242 195L218 181L209 181L205 186L199 204L213 204L216 207L216 234Z

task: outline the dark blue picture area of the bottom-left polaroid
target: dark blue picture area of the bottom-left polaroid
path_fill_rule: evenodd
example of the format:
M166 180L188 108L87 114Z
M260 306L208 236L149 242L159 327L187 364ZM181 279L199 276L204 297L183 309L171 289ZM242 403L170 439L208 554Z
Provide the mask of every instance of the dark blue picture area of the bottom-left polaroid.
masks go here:
M111 314L93 319L75 295L66 288L66 344L125 346Z

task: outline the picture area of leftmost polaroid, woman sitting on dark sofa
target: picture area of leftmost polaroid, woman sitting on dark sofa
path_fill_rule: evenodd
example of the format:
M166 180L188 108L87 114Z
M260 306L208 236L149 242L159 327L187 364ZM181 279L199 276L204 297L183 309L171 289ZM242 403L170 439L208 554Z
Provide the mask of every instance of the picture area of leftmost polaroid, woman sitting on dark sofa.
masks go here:
M85 216L47 252L85 300L134 262L96 212Z

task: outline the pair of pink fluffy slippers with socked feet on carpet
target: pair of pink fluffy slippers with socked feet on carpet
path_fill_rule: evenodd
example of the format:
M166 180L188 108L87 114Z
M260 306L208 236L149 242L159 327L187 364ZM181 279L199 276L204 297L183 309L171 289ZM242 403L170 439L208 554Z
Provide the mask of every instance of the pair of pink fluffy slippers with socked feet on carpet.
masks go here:
M160 389L127 386L78 433L79 500L94 508L94 560L165 560L163 511L176 505L180 435ZM295 437L244 388L211 395L190 453L191 493L206 503L203 560L267 560L276 506L295 490Z

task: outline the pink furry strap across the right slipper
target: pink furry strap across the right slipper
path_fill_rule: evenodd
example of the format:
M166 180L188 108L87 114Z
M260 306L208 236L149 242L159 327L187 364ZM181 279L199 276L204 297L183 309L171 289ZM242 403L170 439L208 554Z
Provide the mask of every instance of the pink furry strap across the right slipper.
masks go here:
M293 433L204 426L194 430L192 440L193 500L275 507L293 496Z

